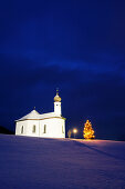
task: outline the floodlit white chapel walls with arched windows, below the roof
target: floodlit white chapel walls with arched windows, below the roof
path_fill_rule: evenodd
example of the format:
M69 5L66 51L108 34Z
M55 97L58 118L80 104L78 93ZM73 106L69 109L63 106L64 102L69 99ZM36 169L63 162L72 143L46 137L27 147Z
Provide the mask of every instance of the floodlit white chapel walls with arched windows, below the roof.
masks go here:
M50 118L44 120L18 121L15 135L43 138L65 138L65 120L62 118Z

